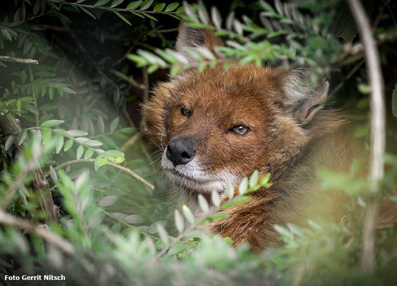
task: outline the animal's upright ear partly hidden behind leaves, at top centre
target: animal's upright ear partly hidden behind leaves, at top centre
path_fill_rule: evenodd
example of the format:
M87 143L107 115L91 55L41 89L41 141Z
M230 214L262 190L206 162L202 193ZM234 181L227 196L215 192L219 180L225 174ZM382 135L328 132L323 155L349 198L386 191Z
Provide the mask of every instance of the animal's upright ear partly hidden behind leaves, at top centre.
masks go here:
M223 43L213 30L188 27L181 22L176 43L178 52L187 54L188 49L207 48L215 54L216 46L223 46Z

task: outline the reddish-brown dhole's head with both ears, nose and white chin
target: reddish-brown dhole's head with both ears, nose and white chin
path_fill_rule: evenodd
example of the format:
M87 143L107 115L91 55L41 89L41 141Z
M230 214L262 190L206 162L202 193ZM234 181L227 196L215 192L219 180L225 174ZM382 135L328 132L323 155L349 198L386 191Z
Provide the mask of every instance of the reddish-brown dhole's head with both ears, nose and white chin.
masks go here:
M212 31L182 24L176 47L187 56L188 49L214 52L220 45ZM234 65L225 71L220 63L158 84L142 112L146 136L162 149L166 176L183 189L207 193L222 192L228 181L256 169L282 175L326 129L316 122L326 121L319 111L328 82L311 75L307 67Z

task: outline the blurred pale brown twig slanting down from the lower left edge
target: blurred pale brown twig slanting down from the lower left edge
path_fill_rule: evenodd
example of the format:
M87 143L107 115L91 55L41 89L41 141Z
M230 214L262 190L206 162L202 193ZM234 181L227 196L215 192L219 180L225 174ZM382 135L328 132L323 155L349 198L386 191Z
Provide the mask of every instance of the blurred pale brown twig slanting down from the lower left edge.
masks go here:
M75 252L73 245L63 240L60 236L46 230L44 227L33 225L30 223L30 221L15 217L5 212L3 209L0 209L0 224L33 232L47 242L58 246L61 250L69 255L73 255Z

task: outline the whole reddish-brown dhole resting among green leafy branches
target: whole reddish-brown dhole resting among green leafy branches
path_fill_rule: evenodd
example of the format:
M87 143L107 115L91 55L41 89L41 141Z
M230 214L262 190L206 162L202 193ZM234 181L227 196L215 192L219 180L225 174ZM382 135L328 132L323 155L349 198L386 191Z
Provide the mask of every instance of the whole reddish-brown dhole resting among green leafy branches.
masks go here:
M176 47L214 52L221 45L210 30L182 24ZM163 151L161 167L179 207L200 214L197 194L210 203L215 189L225 200L228 181L237 185L256 169L271 173L270 188L205 226L234 245L259 251L276 241L275 223L314 213L338 219L342 204L321 192L317 170L346 171L357 154L340 113L323 109L328 82L320 75L313 82L311 74L306 67L191 68L160 83L143 105L144 131Z

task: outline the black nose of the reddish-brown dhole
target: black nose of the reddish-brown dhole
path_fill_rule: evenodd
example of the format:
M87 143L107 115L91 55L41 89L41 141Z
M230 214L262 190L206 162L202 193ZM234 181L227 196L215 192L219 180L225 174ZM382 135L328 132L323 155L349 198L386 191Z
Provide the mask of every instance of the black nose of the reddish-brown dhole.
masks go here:
M197 150L193 145L188 138L174 137L168 142L165 155L174 166L185 165L192 161L196 155Z

